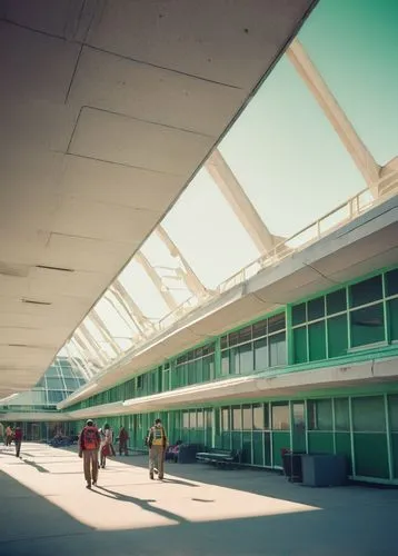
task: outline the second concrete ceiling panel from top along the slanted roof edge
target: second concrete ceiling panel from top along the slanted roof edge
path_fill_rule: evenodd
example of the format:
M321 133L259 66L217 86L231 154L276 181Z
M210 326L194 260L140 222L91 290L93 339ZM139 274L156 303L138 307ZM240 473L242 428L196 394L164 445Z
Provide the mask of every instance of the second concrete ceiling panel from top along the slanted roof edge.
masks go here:
M69 103L217 137L245 97L239 88L83 48Z

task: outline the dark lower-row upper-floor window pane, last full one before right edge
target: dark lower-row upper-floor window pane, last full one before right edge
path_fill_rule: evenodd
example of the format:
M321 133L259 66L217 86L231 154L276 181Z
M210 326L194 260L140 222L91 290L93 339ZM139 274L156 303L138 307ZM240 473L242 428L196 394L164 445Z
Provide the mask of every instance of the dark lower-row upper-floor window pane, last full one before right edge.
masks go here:
M382 304L371 305L350 312L351 345L366 346L384 341L385 311Z

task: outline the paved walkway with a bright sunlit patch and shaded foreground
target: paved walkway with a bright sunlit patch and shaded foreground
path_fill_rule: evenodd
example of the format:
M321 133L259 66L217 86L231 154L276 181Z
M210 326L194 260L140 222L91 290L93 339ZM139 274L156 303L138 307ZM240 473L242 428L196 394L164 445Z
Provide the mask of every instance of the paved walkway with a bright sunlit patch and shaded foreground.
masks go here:
M306 488L263 470L116 458L84 488L73 450L0 447L0 554L378 556L398 553L398 490Z

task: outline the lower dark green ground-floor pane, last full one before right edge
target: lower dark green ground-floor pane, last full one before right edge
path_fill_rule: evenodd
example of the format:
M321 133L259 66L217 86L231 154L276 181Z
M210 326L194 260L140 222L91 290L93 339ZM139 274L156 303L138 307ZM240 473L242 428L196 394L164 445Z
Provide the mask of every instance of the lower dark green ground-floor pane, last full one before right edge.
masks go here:
M355 433L356 475L388 479L387 435L377 433Z

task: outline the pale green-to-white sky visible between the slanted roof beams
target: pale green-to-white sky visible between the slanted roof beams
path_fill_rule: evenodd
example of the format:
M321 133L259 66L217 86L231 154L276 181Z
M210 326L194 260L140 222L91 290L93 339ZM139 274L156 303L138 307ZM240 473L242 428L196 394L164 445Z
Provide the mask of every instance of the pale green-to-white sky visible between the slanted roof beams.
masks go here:
M298 38L376 161L398 155L398 1L320 0ZM289 238L366 188L305 82L283 56L219 150L268 229ZM216 288L259 257L217 186L201 169L162 222L192 270ZM142 248L178 302L176 259L152 235ZM167 278L166 278L167 277ZM170 308L137 261L121 282L152 320ZM107 305L107 304L106 304ZM128 326L98 311L122 348ZM98 332L97 332L98 337ZM103 339L99 338L103 344Z

